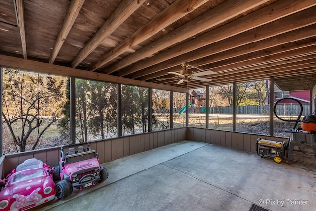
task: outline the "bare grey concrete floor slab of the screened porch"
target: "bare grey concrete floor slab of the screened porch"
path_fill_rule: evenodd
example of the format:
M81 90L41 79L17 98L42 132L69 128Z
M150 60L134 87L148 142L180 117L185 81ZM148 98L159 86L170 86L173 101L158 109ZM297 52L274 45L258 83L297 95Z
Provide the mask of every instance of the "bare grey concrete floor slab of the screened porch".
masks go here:
M316 211L316 166L183 141L102 164L109 178L50 211Z

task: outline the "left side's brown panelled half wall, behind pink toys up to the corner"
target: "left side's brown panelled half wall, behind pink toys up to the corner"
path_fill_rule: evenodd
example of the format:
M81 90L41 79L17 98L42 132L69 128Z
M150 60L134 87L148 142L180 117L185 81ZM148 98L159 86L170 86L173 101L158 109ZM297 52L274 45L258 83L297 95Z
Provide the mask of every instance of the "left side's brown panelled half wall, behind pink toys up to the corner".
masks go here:
M187 127L169 130L154 131L136 135L123 136L102 141L89 142L91 149L95 149L99 154L99 163L105 163L124 156L137 154L146 150L154 149L170 143L184 140ZM10 173L17 165L26 159L37 158L54 167L58 165L60 147L28 151L4 155L0 166L2 178Z

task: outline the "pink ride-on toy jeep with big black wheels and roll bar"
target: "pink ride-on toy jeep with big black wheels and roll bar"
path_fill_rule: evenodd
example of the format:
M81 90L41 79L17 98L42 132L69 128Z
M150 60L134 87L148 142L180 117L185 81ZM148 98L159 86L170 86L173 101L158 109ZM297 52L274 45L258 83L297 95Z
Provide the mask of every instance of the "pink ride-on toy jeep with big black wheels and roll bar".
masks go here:
M65 199L73 192L73 187L79 190L95 185L97 182L105 181L108 170L99 164L99 155L91 150L89 143L82 143L75 150L74 145L62 146L60 150L59 165L54 170L56 183L56 196L58 199ZM87 145L86 149L83 145ZM65 148L68 151L65 152ZM65 151L64 151L65 150Z

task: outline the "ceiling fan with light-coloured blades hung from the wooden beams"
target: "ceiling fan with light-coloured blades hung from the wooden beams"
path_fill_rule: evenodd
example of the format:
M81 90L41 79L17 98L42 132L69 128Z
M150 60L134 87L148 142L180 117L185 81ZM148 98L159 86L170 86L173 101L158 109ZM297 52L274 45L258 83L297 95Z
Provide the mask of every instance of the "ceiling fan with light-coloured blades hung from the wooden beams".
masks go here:
M194 79L194 80L199 80L199 81L204 81L204 82L210 82L212 81L212 79L206 79L206 78L202 78L199 76L207 76L207 75L211 75L211 74L215 74L213 71L211 70L203 70L200 69L198 67L195 67L193 65L190 65L188 62L182 62L181 63L181 67L183 68L183 70L177 71L177 72L168 72L170 74L174 74L177 76L171 77L171 78L160 78L160 79L156 79L156 80L167 80L167 79L180 79L178 81L177 84L181 84L182 82L186 82L188 81L188 79ZM188 70L188 67L194 67L198 70L200 70L201 72L195 72L193 73L192 70Z

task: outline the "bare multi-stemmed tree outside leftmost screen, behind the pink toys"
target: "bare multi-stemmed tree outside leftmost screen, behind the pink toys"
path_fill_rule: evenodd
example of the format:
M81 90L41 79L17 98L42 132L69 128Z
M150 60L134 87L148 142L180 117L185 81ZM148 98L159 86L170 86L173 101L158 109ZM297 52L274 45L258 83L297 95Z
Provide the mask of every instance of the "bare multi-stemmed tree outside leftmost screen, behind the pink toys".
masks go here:
M2 116L17 152L32 142L35 149L45 131L57 121L65 101L64 81L52 76L3 69ZM30 140L30 137L35 140Z

